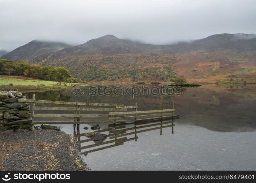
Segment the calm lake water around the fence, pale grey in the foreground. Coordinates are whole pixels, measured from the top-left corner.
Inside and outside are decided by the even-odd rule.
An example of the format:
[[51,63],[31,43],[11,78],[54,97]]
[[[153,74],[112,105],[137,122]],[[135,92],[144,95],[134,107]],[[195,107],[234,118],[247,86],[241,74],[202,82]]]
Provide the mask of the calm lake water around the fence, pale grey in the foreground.
[[[159,109],[160,102],[163,102],[164,109],[168,109],[172,106],[171,101],[175,100],[175,114],[180,115],[174,123],[174,134],[171,127],[163,128],[162,135],[160,129],[141,132],[137,134],[137,142],[128,141],[82,155],[92,170],[256,170],[256,85],[212,84],[187,88],[182,96],[144,95],[133,99],[130,96],[89,96],[89,86],[81,89],[84,92],[82,96],[75,96],[74,91],[76,89],[23,94],[31,99],[35,93],[38,100],[125,105],[137,102],[138,111]],[[84,127],[92,125],[80,124],[80,133],[91,131],[84,130]],[[62,126],[62,131],[67,134],[73,134],[73,125],[58,126]],[[108,128],[108,124],[100,126],[101,129]],[[126,126],[129,127],[133,126]],[[127,136],[132,137],[134,135]],[[90,144],[94,143],[85,142],[81,146]]]

